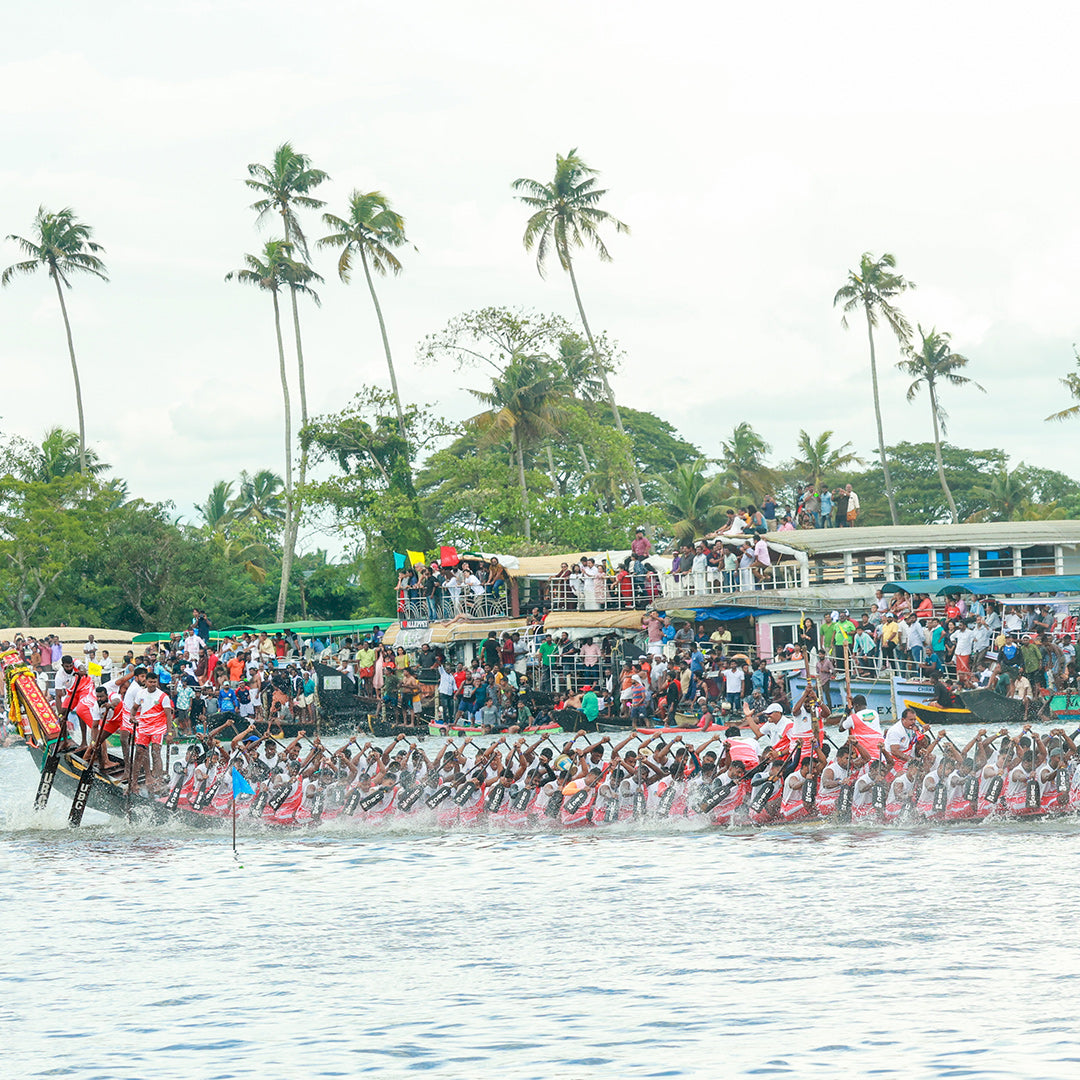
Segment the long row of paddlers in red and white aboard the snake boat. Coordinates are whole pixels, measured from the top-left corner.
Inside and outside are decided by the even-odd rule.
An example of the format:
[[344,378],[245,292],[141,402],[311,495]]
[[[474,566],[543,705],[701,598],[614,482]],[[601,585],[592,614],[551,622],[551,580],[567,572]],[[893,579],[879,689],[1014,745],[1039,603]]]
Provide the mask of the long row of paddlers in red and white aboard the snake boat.
[[[173,765],[172,809],[280,825],[330,818],[441,826],[589,827],[634,819],[699,824],[959,821],[1080,810],[1080,754],[1064,730],[978,731],[959,746],[906,711],[887,730],[855,697],[827,721],[779,705],[696,745],[685,735],[447,741],[434,756],[399,737],[332,750],[248,728],[192,744]],[[835,726],[835,732],[828,731]],[[240,792],[240,794],[235,794]],[[235,804],[233,804],[235,799]]]

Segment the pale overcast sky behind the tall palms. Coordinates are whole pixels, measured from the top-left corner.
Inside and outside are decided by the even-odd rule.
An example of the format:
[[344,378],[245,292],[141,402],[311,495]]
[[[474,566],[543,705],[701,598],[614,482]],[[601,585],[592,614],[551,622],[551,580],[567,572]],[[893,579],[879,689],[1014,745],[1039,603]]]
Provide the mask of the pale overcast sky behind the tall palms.
[[[918,284],[912,323],[951,332],[988,391],[945,392],[950,440],[1080,475],[1077,429],[1042,419],[1080,338],[1077,22],[1067,3],[9,5],[0,234],[39,203],[94,227],[111,281],[69,301],[87,438],[185,514],[241,469],[282,471],[269,300],[224,276],[273,235],[243,179],[284,139],[330,174],[328,210],[360,187],[406,218],[419,251],[379,285],[406,400],[472,409],[480,373],[416,364],[455,313],[576,316],[565,275],[522,247],[510,183],[578,147],[633,230],[612,264],[579,262],[594,327],[626,353],[621,402],[706,454],[747,420],[777,460],[799,428],[869,457],[865,329],[832,299],[861,252],[888,251]],[[318,414],[387,374],[362,280],[316,266]],[[0,350],[2,429],[76,428],[43,275],[0,295]],[[927,440],[897,359],[881,335],[886,438]]]

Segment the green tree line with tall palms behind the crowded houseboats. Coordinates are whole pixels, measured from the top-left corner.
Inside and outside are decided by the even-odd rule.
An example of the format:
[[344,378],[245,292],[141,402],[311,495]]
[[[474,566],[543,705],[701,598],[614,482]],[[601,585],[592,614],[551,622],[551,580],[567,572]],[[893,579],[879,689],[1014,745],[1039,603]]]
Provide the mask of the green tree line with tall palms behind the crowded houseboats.
[[[589,321],[576,259],[588,249],[609,260],[605,231],[630,230],[604,207],[608,192],[577,150],[556,154],[550,180],[511,185],[528,211],[524,247],[541,276],[552,260],[565,272],[577,322],[500,307],[462,313],[419,343],[417,361],[460,372],[476,411],[448,417],[403,402],[375,282],[404,269],[399,253],[411,246],[405,220],[382,192],[356,189],[343,213],[321,215],[324,234],[309,242],[310,217],[325,205],[316,191],[327,179],[289,143],[269,162],[247,166],[251,210],[280,235],[225,278],[269,300],[283,458],[280,472],[260,462],[252,473],[218,480],[191,523],[167,503],[129,499],[122,477],[87,446],[64,296],[79,275],[108,281],[91,227],[70,208],[40,207],[29,235],[9,237],[23,258],[0,282],[42,270],[55,286],[78,432],[55,428],[40,445],[8,438],[0,447],[0,621],[157,630],[183,622],[192,606],[217,612],[219,625],[387,615],[394,551],[440,543],[617,549],[639,524],[661,542],[686,540],[719,526],[729,508],[770,495],[793,508],[808,483],[854,485],[863,525],[1080,515],[1080,489],[1063,473],[1023,462],[1010,468],[1003,450],[945,442],[942,391],[983,388],[964,374],[970,361],[953,350],[947,333],[918,326],[915,342],[899,306],[915,285],[888,253],[864,253],[833,298],[845,325],[849,316],[866,325],[877,429],[872,464],[832,431],[800,431],[791,457],[774,454],[745,421],[699,447],[661,417],[620,404],[612,386],[619,348]],[[362,271],[390,386],[366,387],[324,417],[308,413],[300,321],[300,301],[318,306],[324,284],[312,249],[335,253],[342,283]],[[896,340],[897,366],[912,378],[908,401],[926,390],[932,442],[887,444],[875,337],[882,324]],[[1080,375],[1062,382],[1080,400]],[[332,565],[321,551],[298,555],[301,522],[343,536],[350,557]]]

